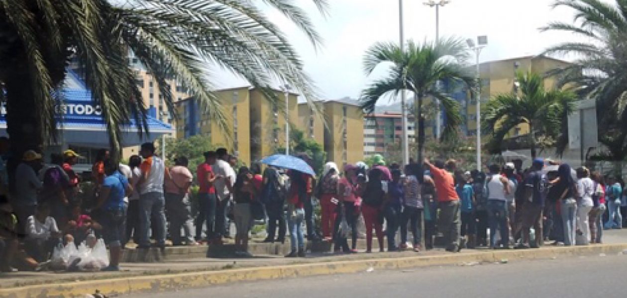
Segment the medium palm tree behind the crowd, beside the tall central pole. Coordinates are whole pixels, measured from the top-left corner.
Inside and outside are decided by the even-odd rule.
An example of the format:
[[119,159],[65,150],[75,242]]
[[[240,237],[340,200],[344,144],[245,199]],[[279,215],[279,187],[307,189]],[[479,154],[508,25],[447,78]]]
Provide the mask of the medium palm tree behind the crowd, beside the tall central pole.
[[372,113],[384,96],[398,96],[409,91],[414,94],[414,115],[418,126],[418,160],[424,155],[424,99],[440,100],[446,116],[443,138],[453,138],[462,121],[460,105],[445,91],[437,88],[438,81],[463,83],[471,86],[472,72],[466,67],[469,58],[465,41],[457,38],[440,39],[435,43],[409,41],[404,51],[395,43],[376,43],[366,52],[364,69],[371,74],[380,64],[391,64],[384,78],[372,81],[361,94],[362,108]]

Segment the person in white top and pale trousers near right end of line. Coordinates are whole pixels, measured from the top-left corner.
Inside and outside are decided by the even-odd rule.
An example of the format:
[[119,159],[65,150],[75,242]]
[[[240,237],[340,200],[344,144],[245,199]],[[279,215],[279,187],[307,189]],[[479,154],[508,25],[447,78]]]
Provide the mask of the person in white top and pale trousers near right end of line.
[[590,244],[590,225],[588,218],[594,207],[593,196],[596,189],[590,171],[586,167],[577,168],[577,245]]

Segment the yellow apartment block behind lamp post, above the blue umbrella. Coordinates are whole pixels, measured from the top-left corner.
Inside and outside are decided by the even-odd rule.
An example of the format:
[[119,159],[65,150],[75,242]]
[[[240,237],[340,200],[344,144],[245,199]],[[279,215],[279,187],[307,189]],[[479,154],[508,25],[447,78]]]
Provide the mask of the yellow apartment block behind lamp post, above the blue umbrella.
[[[258,89],[250,90],[250,152],[252,160],[260,160],[285,148],[285,97],[286,93],[273,90],[277,105],[271,103]],[[298,123],[298,95],[287,93],[288,119]]]

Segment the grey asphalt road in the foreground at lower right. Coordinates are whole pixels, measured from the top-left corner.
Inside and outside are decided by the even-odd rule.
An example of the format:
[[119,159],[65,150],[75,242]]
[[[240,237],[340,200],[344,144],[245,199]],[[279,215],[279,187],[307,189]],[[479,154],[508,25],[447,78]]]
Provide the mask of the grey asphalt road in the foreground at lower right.
[[627,297],[627,255],[378,270],[125,297]]

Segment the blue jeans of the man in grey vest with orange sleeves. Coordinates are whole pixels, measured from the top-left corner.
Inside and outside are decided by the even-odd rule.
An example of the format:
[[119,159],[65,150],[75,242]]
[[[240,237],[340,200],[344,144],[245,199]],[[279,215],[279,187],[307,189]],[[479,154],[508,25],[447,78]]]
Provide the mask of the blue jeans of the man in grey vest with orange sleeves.
[[166,199],[161,192],[149,192],[139,196],[139,246],[150,246],[150,227],[158,246],[166,245]]

